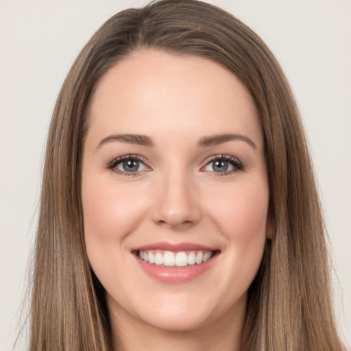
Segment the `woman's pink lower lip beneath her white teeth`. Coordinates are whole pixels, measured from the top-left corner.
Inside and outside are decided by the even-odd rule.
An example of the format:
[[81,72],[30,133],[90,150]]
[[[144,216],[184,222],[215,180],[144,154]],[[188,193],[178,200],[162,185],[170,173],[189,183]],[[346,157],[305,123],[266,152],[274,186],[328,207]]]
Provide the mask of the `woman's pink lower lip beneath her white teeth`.
[[208,261],[200,263],[199,265],[195,264],[187,265],[186,267],[181,268],[166,268],[152,263],[147,263],[134,254],[136,261],[147,275],[160,282],[171,284],[190,282],[191,280],[197,278],[201,274],[204,274],[206,271],[208,271],[208,269],[210,269],[210,267],[212,267],[213,263],[215,263],[217,256],[219,255],[215,254],[215,256],[212,256]]

